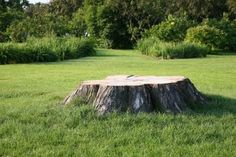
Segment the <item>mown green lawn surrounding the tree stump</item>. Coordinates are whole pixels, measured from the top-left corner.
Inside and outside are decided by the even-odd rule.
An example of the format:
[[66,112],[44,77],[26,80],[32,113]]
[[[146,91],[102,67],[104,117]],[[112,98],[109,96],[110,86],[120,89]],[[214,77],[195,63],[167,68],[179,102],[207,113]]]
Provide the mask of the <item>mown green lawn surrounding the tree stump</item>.
[[[0,156],[236,156],[236,55],[156,60],[100,50],[57,63],[0,65]],[[96,115],[59,103],[81,81],[184,75],[207,94],[195,113]]]

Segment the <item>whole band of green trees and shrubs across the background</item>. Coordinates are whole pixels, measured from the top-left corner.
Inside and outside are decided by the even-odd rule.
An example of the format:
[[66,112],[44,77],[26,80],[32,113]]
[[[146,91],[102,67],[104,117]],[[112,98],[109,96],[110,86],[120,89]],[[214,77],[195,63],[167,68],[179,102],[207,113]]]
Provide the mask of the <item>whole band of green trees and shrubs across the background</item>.
[[[235,17],[235,0],[51,0],[49,4],[0,0],[0,41],[89,36],[100,47],[132,48],[141,37],[156,34],[164,41],[202,43],[211,40],[201,39],[202,32],[212,37],[218,33],[216,40],[229,37]],[[235,49],[225,39],[207,45]]]

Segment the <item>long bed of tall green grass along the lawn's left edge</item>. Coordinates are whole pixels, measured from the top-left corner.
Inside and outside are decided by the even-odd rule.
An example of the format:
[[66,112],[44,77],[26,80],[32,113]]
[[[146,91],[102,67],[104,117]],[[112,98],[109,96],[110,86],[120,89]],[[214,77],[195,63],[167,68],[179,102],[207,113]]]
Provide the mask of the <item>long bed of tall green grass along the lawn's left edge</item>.
[[54,62],[95,55],[94,42],[74,37],[30,38],[26,43],[1,43],[0,64]]

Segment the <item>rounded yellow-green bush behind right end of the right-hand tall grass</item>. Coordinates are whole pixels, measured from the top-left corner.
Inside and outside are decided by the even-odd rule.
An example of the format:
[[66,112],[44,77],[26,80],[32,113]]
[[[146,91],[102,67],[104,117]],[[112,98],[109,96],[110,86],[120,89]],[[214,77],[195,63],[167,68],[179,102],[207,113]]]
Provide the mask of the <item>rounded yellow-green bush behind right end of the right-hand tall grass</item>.
[[226,34],[218,28],[199,25],[188,29],[185,40],[204,44],[211,49],[219,49],[225,45]]

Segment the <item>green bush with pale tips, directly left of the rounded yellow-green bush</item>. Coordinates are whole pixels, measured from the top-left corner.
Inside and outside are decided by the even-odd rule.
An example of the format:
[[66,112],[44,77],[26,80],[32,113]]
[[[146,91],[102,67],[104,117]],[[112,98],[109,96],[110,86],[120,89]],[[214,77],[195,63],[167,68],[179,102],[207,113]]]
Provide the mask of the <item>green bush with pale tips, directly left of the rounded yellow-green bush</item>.
[[144,37],[154,36],[166,42],[179,42],[184,40],[187,29],[193,25],[194,23],[185,16],[174,17],[169,15],[166,21],[145,32]]

